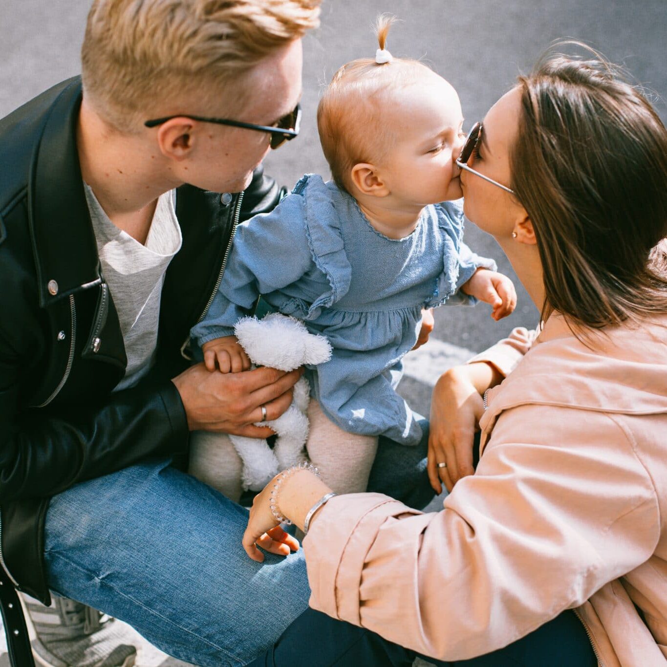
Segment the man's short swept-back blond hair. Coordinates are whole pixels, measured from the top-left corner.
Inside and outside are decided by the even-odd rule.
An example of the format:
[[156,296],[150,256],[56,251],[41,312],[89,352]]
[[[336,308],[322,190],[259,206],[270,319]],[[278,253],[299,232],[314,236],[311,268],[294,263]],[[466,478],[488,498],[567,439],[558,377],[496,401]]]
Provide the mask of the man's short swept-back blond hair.
[[84,95],[129,132],[181,111],[169,102],[196,98],[187,111],[207,115],[237,108],[243,91],[230,82],[317,27],[320,1],[95,0],[81,48]]

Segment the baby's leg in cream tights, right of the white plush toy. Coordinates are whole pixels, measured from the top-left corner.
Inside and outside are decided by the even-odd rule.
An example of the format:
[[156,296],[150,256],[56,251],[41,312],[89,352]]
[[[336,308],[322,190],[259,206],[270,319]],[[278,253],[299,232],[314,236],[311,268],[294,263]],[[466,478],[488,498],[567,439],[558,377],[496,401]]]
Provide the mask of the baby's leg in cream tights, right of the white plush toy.
[[378,438],[348,433],[333,424],[319,403],[308,404],[310,434],[306,449],[322,480],[338,494],[366,491],[378,450]]

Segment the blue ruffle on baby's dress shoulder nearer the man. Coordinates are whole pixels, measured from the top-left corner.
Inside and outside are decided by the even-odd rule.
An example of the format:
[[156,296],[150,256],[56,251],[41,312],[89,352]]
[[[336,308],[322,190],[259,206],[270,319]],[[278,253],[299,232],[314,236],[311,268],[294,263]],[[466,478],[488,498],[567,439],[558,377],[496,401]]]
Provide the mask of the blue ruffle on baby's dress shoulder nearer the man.
[[316,174],[303,176],[293,192],[303,194],[308,246],[315,265],[326,276],[330,288],[310,304],[304,315],[304,319],[315,319],[323,308],[348,293],[352,281],[352,267],[345,252],[340,216],[335,205],[340,192],[329,187]]

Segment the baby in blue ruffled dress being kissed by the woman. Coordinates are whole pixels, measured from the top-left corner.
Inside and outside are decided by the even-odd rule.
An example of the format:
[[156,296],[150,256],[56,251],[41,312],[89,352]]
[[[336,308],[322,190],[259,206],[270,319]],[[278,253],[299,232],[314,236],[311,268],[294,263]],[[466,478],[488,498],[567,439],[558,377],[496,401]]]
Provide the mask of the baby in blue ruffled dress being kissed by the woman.
[[392,58],[390,24],[378,21],[376,59],[341,67],[319,103],[333,181],[305,175],[271,213],[238,225],[219,290],[191,331],[209,370],[249,368],[233,325],[261,294],[329,339],[331,360],[307,371],[306,448],[339,493],[366,490],[378,436],[422,438],[395,391],[422,309],[480,299],[500,319],[516,302],[510,279],[462,240],[458,95],[422,63]]

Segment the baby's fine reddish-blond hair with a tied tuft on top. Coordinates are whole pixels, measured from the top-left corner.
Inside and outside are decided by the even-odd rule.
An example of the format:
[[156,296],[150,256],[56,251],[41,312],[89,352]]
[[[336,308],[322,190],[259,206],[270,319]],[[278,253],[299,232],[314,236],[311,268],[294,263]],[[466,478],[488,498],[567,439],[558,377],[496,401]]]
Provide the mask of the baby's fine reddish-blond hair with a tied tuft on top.
[[[380,49],[396,19],[378,17],[376,35]],[[359,163],[377,164],[396,143],[387,127],[386,114],[392,91],[413,85],[432,71],[419,61],[394,58],[376,63],[360,58],[346,63],[333,75],[317,106],[317,131],[324,157],[336,184],[350,191],[350,172]]]

